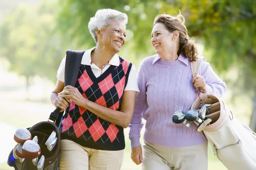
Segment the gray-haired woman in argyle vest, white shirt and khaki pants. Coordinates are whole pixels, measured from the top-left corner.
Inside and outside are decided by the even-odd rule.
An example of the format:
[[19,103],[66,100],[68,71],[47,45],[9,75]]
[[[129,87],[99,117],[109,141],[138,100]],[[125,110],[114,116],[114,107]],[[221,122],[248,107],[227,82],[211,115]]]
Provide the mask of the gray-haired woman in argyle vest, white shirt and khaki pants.
[[[66,110],[61,119],[60,170],[120,170],[123,128],[128,127],[137,92],[136,69],[117,55],[125,44],[128,17],[98,10],[88,24],[96,47],[84,51],[75,87],[64,87],[65,58],[51,94]],[[70,102],[70,103],[69,103]]]

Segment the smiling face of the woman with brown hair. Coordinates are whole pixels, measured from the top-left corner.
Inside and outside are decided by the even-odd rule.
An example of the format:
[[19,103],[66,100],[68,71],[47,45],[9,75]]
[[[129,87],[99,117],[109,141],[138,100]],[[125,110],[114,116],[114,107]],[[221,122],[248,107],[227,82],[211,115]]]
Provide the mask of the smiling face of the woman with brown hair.
[[172,40],[174,37],[173,33],[170,33],[163,23],[156,23],[154,25],[151,37],[151,44],[159,55],[176,48],[176,42]]

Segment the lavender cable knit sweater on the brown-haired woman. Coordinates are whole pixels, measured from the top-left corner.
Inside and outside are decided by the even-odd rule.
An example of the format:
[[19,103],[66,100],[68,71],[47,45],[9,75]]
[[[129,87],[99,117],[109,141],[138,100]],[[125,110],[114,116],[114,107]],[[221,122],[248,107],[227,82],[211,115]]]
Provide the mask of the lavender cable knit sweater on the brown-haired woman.
[[[222,96],[226,84],[203,61],[199,75],[205,78],[207,93]],[[188,128],[172,122],[177,110],[188,111],[197,95],[192,82],[189,59],[180,55],[176,61],[165,61],[158,55],[143,59],[137,73],[140,93],[129,125],[131,147],[141,146],[142,119],[146,120],[143,139],[164,147],[188,147],[207,141],[194,123]]]

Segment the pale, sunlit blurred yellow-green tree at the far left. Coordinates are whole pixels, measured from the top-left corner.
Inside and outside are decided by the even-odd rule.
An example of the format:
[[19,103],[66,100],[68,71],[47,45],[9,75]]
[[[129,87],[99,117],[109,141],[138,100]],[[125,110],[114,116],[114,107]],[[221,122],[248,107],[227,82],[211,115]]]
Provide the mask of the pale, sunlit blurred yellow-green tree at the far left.
[[56,81],[56,71],[69,41],[55,22],[57,1],[44,1],[35,8],[20,6],[3,17],[0,24],[0,56],[9,62],[10,71],[29,78],[35,75]]

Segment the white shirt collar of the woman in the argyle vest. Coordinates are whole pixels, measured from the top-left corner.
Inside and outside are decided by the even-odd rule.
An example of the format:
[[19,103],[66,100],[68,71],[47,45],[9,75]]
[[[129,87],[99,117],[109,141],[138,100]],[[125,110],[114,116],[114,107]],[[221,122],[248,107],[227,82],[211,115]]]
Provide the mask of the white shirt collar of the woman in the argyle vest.
[[[95,50],[96,47],[93,47],[91,48],[90,50],[86,50],[84,52],[84,55],[82,57],[82,60],[81,60],[81,64],[84,64],[84,65],[92,65],[91,64],[91,57],[90,57],[90,54],[93,50]],[[109,61],[109,64],[110,65],[115,65],[115,66],[118,66],[119,65],[119,56],[117,54],[115,54],[111,60]]]

